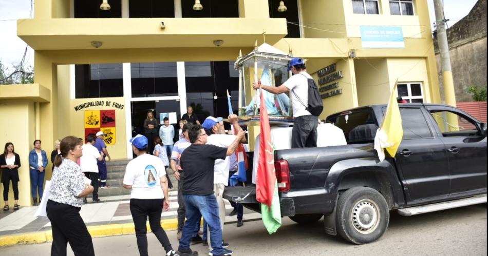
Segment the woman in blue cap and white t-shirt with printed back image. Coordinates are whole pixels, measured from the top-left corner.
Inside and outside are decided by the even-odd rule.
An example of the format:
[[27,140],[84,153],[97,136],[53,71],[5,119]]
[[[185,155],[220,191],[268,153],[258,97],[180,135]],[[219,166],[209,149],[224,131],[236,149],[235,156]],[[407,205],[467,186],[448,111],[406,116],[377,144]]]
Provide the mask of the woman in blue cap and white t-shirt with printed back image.
[[136,229],[137,248],[140,255],[147,255],[147,227],[149,226],[166,251],[166,255],[178,255],[173,250],[166,232],[161,227],[161,212],[170,209],[168,183],[163,162],[147,153],[147,137],[137,134],[129,140],[137,157],[125,167],[123,186],[130,191],[130,213]]

